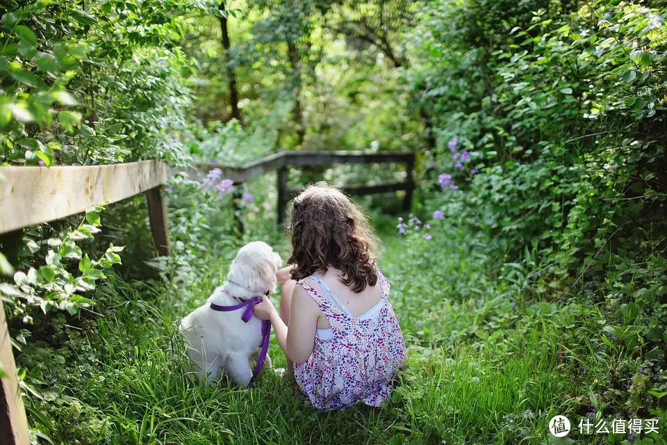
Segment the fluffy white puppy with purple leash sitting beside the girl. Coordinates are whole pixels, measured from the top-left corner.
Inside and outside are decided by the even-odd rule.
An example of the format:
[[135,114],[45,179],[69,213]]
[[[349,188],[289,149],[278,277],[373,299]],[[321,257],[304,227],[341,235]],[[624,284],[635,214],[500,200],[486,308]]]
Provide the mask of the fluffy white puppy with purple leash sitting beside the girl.
[[259,318],[253,315],[245,323],[241,320],[245,308],[219,312],[211,309],[211,303],[233,306],[275,291],[280,266],[279,255],[267,243],[253,241],[244,245],[229,266],[227,281],[181,321],[190,358],[199,366],[202,378],[208,375],[208,385],[224,371],[236,385],[247,386],[252,378],[249,357],[262,341]]

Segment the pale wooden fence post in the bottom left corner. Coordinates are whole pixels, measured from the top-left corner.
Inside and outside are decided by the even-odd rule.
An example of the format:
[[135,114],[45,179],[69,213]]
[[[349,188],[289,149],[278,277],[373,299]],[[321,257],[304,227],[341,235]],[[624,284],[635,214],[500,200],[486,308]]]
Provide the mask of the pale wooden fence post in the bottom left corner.
[[30,445],[28,419],[21,398],[2,300],[0,300],[0,367],[6,374],[6,377],[0,378],[0,445]]

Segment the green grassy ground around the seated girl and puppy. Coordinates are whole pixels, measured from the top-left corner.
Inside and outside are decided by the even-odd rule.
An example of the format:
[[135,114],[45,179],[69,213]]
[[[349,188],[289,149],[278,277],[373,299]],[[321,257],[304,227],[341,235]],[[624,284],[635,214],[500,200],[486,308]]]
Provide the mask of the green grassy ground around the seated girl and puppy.
[[[596,352],[594,307],[525,299],[517,284],[491,280],[484,258],[454,236],[411,239],[384,236],[381,268],[393,286],[409,367],[381,409],[318,412],[272,372],[250,389],[195,381],[174,322],[208,296],[226,258],[188,285],[187,298],[179,286],[112,277],[102,289],[106,316],[94,318],[88,334],[70,330],[61,350],[26,349],[31,382],[51,388],[42,400],[31,397],[33,425],[67,444],[551,443],[552,416],[573,420],[597,403],[608,357]],[[283,366],[274,342],[270,352]],[[597,408],[590,410],[602,416]]]

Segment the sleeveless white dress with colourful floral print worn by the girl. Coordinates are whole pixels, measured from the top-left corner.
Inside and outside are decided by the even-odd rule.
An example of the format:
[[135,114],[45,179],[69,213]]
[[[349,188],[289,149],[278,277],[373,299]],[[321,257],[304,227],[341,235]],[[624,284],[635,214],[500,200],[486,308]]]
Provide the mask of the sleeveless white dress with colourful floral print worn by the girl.
[[[390,286],[377,269],[381,298],[362,316],[353,317],[319,275],[310,278],[320,289],[299,280],[331,325],[333,336],[315,336],[306,362],[294,365],[299,388],[321,410],[343,409],[363,401],[379,406],[391,392],[391,380],[405,360],[401,328],[388,300]],[[310,280],[308,280],[310,281]]]

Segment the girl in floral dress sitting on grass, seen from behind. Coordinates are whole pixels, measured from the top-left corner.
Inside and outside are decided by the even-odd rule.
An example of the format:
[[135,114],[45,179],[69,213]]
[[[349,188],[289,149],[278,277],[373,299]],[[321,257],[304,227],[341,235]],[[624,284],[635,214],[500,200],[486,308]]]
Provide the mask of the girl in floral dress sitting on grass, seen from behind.
[[406,350],[372,230],[343,193],[320,183],[295,198],[289,234],[280,313],[264,298],[256,316],[271,321],[289,371],[315,407],[378,406]]

